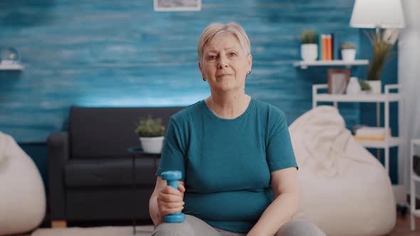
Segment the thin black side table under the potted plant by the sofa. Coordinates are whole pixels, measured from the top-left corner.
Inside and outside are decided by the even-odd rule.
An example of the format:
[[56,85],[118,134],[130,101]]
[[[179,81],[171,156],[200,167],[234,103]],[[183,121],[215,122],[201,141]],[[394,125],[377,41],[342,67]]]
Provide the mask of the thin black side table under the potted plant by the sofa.
[[127,151],[131,154],[131,166],[132,166],[132,194],[133,194],[133,217],[132,217],[132,234],[135,235],[136,232],[142,232],[142,231],[137,231],[136,230],[136,209],[137,209],[137,204],[136,204],[136,157],[137,156],[142,156],[145,158],[152,158],[153,160],[153,166],[154,166],[154,170],[157,168],[157,160],[160,159],[160,155],[161,154],[149,154],[146,153],[145,151],[143,151],[142,147],[131,147],[128,148]]

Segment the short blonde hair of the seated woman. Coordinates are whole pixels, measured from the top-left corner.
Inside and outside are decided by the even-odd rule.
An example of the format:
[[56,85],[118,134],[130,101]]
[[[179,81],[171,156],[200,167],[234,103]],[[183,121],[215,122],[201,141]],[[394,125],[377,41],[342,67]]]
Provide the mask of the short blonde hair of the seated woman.
[[203,60],[204,45],[211,41],[214,36],[220,35],[222,33],[232,33],[234,36],[236,36],[236,38],[238,38],[239,43],[241,43],[243,53],[246,55],[251,54],[251,43],[249,43],[249,38],[238,23],[211,23],[209,26],[204,28],[204,31],[201,33],[199,43],[197,45],[197,53],[199,54],[200,63],[202,63]]

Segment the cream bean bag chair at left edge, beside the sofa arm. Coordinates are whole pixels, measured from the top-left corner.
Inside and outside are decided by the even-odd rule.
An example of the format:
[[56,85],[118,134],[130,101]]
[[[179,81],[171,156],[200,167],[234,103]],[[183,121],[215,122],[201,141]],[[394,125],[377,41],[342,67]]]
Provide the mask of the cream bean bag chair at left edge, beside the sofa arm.
[[0,235],[33,230],[45,212],[38,168],[11,136],[0,132]]

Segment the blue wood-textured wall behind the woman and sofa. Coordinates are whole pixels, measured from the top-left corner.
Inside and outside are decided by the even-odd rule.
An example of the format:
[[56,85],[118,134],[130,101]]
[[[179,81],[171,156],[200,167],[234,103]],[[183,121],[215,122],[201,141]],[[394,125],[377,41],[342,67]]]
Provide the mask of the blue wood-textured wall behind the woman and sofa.
[[[303,28],[368,41],[349,21],[354,0],[203,0],[198,12],[154,12],[152,0],[0,1],[0,45],[21,52],[22,73],[0,71],[0,130],[21,144],[63,129],[68,107],[187,105],[209,95],[197,66],[196,42],[211,22],[236,21],[253,54],[246,92],[280,107],[289,124],[311,108],[312,85],[326,68],[300,70]],[[362,55],[359,49],[359,55]],[[360,68],[352,75],[361,75]],[[393,71],[396,71],[394,68]],[[387,76],[387,75],[385,75]],[[348,126],[358,104],[342,105]],[[372,119],[374,111],[362,119]],[[27,146],[29,149],[31,146]]]

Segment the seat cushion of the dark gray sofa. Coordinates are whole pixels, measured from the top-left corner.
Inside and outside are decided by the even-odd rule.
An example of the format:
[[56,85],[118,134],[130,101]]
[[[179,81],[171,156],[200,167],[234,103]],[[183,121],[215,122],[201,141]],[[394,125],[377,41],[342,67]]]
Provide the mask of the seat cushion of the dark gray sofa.
[[[136,185],[154,186],[158,159],[136,159]],[[65,166],[65,186],[127,187],[132,186],[132,159],[72,159]]]

